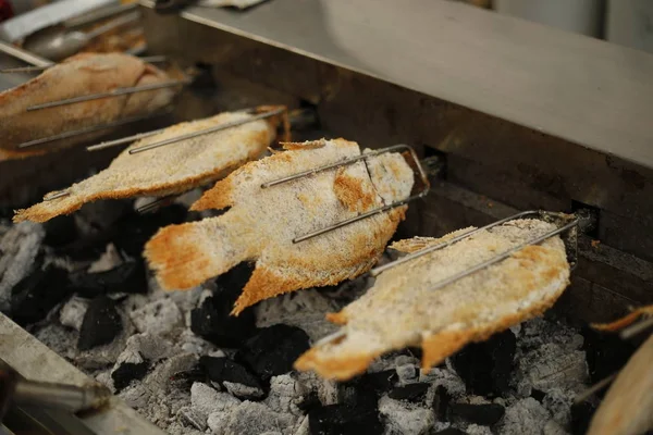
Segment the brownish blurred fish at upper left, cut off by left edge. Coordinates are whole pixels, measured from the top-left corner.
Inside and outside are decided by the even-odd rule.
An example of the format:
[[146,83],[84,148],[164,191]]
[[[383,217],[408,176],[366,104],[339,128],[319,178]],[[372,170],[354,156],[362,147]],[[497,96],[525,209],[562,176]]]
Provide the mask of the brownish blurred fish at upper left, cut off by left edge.
[[[0,94],[0,148],[8,151],[2,156],[5,159],[30,156],[35,153],[34,149],[23,154],[25,150],[17,146],[63,132],[155,112],[170,103],[177,89],[162,88],[36,111],[27,111],[29,107],[169,80],[172,78],[167,73],[133,55],[73,55],[29,82]],[[88,139],[88,136],[85,138]],[[62,140],[57,142],[57,147],[71,146],[76,141]],[[41,152],[50,149],[51,145],[39,148]]]

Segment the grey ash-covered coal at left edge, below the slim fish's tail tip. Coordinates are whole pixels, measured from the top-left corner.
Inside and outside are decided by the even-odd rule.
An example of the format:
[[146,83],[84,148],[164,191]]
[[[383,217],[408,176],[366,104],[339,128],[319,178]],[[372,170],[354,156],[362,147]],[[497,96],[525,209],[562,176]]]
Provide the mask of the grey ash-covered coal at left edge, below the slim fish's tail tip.
[[42,225],[21,222],[0,239],[0,311],[9,309],[11,290],[32,271],[45,237]]

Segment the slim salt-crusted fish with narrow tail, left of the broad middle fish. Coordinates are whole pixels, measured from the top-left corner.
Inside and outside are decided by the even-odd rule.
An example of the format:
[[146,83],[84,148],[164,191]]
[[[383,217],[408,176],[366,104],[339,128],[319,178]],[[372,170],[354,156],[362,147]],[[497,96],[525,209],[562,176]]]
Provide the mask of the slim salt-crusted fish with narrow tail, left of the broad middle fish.
[[69,187],[69,195],[19,210],[14,222],[45,222],[99,199],[162,197],[222,178],[266,151],[275,138],[278,117],[252,121],[145,152],[130,154],[130,150],[252,116],[226,112],[168,127],[130,146],[104,171]]

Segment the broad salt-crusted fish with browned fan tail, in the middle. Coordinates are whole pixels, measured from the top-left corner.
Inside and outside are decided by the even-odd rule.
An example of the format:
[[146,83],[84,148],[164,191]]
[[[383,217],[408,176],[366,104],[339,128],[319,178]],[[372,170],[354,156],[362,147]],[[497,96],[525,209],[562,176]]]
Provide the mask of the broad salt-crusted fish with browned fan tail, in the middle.
[[193,210],[231,209],[219,217],[161,229],[145,257],[167,289],[185,289],[242,261],[256,269],[236,301],[238,313],[259,300],[334,285],[368,271],[406,207],[293,244],[305,235],[410,195],[414,173],[398,153],[384,153],[286,184],[261,184],[360,154],[335,139],[286,144],[287,151],[250,162],[218,182]]

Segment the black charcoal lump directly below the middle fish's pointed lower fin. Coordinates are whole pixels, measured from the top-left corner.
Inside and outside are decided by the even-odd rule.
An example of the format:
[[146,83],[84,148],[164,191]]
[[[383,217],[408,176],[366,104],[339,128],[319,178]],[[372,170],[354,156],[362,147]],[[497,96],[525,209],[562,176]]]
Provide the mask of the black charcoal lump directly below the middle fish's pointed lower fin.
[[259,330],[249,338],[236,353],[236,360],[268,382],[292,371],[293,363],[308,348],[308,335],[303,330],[276,324]]

